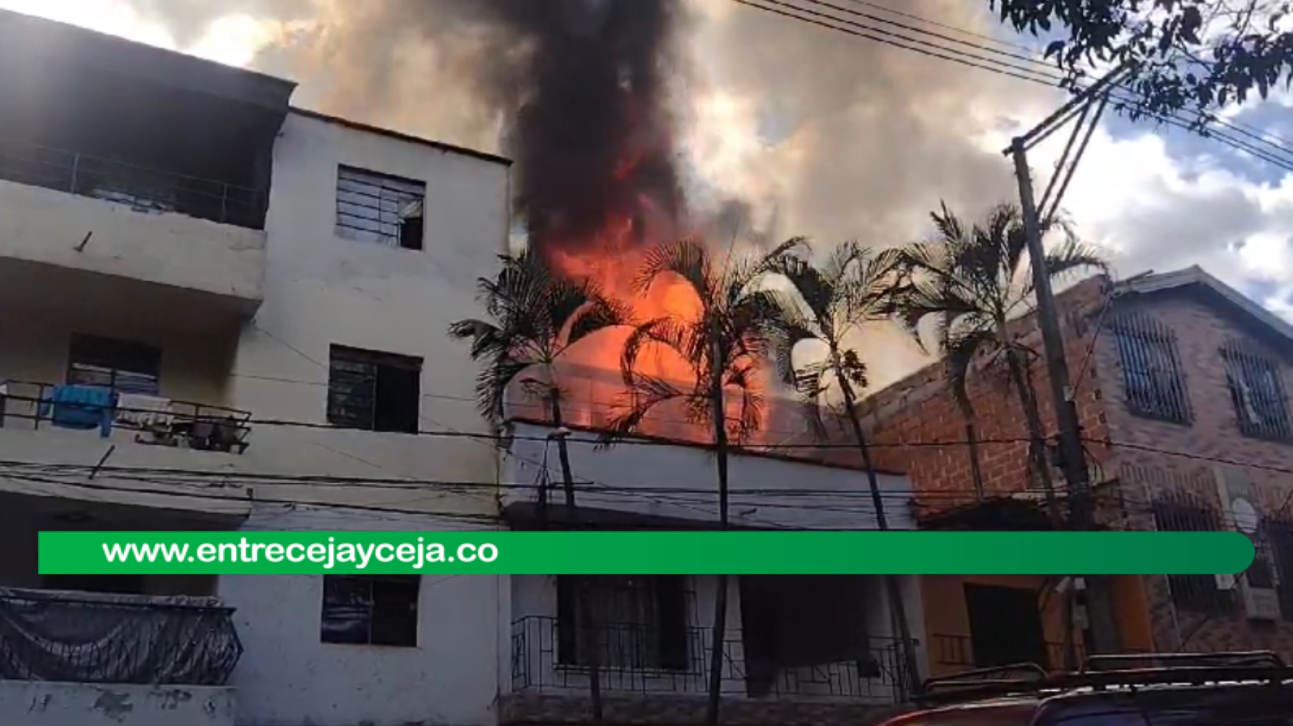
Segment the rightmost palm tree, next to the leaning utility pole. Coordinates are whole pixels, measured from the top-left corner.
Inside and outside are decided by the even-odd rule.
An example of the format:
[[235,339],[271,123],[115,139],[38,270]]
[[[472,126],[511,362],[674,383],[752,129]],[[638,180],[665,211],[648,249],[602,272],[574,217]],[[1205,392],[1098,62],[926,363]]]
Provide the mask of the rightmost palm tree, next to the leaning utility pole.
[[[939,353],[944,355],[949,384],[967,421],[974,420],[968,395],[974,363],[985,359],[989,366],[1005,366],[1028,426],[1033,477],[1046,492],[1051,517],[1059,521],[1045,429],[1031,376],[1037,354],[1010,331],[1011,320],[1033,310],[1023,213],[1014,204],[999,204],[981,223],[967,227],[941,204],[931,217],[937,234],[900,253],[899,266],[906,282],[895,297],[893,310],[918,341],[921,323],[935,320]],[[1099,252],[1080,242],[1063,220],[1053,220],[1042,229],[1042,234],[1050,231],[1063,234],[1060,244],[1046,253],[1051,280],[1059,282],[1084,269],[1108,270]],[[978,456],[972,459],[978,469]]]

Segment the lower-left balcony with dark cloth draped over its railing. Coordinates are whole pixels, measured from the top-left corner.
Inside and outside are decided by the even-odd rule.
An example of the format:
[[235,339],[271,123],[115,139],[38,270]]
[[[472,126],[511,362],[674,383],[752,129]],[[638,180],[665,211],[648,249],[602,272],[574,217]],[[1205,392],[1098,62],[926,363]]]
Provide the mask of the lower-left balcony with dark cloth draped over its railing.
[[209,597],[0,588],[0,722],[231,725],[231,612]]

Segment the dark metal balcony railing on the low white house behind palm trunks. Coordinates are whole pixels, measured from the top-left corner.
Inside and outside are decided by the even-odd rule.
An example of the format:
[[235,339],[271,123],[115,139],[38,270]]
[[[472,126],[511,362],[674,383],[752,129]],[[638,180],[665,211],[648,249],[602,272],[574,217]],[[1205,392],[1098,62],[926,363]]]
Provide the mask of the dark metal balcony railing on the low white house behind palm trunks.
[[[643,625],[600,625],[584,630],[595,636],[599,685],[608,694],[703,695],[709,691],[710,643],[707,628],[687,628],[665,656],[659,630]],[[512,687],[516,692],[587,694],[591,669],[568,663],[560,647],[559,620],[530,616],[512,624]],[[723,641],[723,695],[778,700],[844,700],[874,704],[903,701],[903,659],[895,638],[871,638],[870,654],[856,661],[822,663],[798,668],[759,669],[746,660],[740,632]],[[583,659],[584,661],[587,659]],[[765,670],[760,677],[756,670]]]

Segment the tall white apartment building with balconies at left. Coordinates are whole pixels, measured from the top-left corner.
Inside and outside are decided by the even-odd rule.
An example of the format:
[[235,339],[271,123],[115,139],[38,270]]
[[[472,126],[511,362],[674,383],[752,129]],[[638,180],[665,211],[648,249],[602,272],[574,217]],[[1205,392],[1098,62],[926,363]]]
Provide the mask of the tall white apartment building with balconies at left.
[[416,431],[487,431],[446,329],[508,161],[10,13],[0,56],[0,722],[494,722],[497,577],[43,577],[35,541],[491,526],[490,442]]

